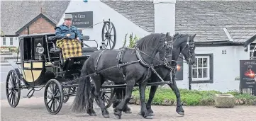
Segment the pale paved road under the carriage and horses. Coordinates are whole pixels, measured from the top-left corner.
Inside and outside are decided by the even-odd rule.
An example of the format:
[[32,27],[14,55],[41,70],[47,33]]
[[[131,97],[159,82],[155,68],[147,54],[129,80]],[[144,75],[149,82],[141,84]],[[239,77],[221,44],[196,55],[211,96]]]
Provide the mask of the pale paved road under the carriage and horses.
[[[94,120],[107,121],[117,120],[113,115],[113,109],[109,108],[110,117],[105,119],[101,115],[100,110],[96,110],[96,117],[90,117],[87,114],[75,114],[69,110],[74,97],[70,98],[67,104],[63,104],[62,110],[57,115],[50,115],[45,109],[43,98],[21,99],[16,108],[11,108],[6,100],[1,100],[1,121],[52,121],[52,120]],[[138,115],[140,107],[138,105],[130,105],[133,113],[123,114],[121,120],[142,121],[143,117]],[[235,108],[213,108],[213,107],[184,107],[185,116],[181,117],[175,113],[174,106],[153,106],[155,117],[152,121],[160,120],[193,120],[193,121],[252,121],[256,119],[256,106],[236,106]]]

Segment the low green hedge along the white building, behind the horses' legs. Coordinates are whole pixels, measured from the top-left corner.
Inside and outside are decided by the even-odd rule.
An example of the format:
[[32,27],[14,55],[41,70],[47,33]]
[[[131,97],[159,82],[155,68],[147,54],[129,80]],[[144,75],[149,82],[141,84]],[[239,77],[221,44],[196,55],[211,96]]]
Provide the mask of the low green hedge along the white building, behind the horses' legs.
[[[236,100],[235,105],[256,105],[256,96],[240,94],[235,91],[221,93],[218,91],[190,91],[179,89],[183,105],[214,105],[215,94],[232,94]],[[148,101],[150,87],[146,88],[146,101]],[[130,103],[140,104],[138,88],[133,91],[133,99]],[[157,88],[152,105],[176,105],[176,96],[171,88]]]

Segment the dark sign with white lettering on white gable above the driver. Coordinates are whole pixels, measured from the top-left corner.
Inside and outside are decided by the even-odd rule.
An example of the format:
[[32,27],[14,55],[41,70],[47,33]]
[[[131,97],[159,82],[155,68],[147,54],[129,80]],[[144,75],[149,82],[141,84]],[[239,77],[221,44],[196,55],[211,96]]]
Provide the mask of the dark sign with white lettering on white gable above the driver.
[[84,11],[84,12],[73,12],[66,13],[72,14],[72,25],[77,28],[93,28],[93,12]]

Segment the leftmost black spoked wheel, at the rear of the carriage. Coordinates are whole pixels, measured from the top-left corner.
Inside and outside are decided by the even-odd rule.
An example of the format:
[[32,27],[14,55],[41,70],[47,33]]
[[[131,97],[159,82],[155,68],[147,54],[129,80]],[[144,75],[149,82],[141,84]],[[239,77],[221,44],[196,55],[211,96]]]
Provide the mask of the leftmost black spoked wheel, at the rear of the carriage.
[[6,79],[6,98],[12,108],[16,108],[21,97],[20,81],[14,70],[9,71]]

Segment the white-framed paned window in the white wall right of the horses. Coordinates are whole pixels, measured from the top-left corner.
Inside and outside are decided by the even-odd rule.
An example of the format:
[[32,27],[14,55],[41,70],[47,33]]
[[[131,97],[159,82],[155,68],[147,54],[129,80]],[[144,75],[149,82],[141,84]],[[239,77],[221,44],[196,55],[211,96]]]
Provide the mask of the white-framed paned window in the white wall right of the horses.
[[210,79],[210,57],[198,56],[196,63],[192,66],[193,81]]

